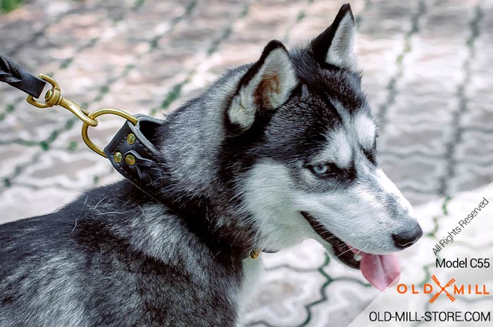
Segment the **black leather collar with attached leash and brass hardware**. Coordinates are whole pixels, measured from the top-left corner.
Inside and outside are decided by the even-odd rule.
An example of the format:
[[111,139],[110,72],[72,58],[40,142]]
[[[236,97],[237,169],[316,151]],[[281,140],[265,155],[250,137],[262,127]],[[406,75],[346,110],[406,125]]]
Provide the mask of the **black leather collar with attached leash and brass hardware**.
[[[156,131],[162,128],[166,121],[142,114],[132,116],[118,109],[99,109],[89,113],[80,108],[78,104],[63,98],[61,89],[54,79],[43,74],[40,74],[39,77],[37,78],[27,73],[11,58],[0,55],[0,82],[6,82],[29,94],[30,97],[27,97],[27,102],[33,106],[46,108],[59,105],[74,113],[84,123],[82,126],[82,138],[89,148],[108,158],[116,171],[144,194],[156,200],[156,202],[161,202],[175,214],[184,216],[187,221],[193,221],[197,217],[203,217],[206,214],[206,204],[200,201],[196,201],[194,204],[187,204],[185,208],[163,194],[163,190],[166,187],[165,182],[169,180],[166,180],[166,176],[163,178],[163,167],[158,165],[158,149],[156,149],[153,142],[156,142]],[[52,89],[45,95],[46,102],[41,103],[33,98],[41,96],[46,82],[52,85]],[[111,142],[104,149],[101,149],[89,140],[87,129],[89,126],[96,126],[96,118],[105,113],[116,114],[125,118],[126,121],[120,130],[116,132]],[[154,178],[154,173],[158,171],[160,173],[159,177]],[[197,230],[197,233],[206,233],[206,231]],[[235,252],[239,254],[241,259],[246,259],[247,257],[255,259],[261,250],[237,249]]]

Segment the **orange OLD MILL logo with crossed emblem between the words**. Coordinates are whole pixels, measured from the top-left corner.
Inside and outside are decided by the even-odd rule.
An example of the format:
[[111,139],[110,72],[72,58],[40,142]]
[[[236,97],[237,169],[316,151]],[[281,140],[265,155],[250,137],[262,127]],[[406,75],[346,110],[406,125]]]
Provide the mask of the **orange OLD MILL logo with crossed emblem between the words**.
[[431,283],[423,284],[423,288],[420,285],[397,285],[397,292],[400,294],[406,294],[411,292],[411,294],[433,294],[430,298],[430,303],[435,302],[440,295],[445,295],[449,298],[451,302],[454,302],[456,298],[454,295],[489,295],[486,289],[486,285],[482,284],[456,284],[456,279],[451,278],[447,283],[440,283],[437,276],[432,275],[431,279],[435,282],[435,285]]

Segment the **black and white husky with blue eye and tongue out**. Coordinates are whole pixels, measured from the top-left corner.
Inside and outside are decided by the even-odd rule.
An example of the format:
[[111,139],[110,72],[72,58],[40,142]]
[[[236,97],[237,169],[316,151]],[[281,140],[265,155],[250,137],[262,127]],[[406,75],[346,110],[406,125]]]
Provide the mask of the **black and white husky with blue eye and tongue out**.
[[422,231],[377,164],[354,32],[344,5],[305,47],[269,42],[166,118],[153,178],[195,214],[123,180],[0,226],[0,326],[237,326],[252,258],[306,238],[392,283],[392,252]]

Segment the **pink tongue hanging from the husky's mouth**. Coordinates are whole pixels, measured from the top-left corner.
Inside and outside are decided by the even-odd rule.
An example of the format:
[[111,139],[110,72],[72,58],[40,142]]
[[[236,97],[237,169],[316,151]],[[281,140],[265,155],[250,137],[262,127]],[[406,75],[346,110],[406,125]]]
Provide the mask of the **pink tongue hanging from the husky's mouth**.
[[385,290],[399,280],[401,266],[396,254],[369,254],[354,247],[351,247],[351,251],[361,255],[361,273],[375,288]]

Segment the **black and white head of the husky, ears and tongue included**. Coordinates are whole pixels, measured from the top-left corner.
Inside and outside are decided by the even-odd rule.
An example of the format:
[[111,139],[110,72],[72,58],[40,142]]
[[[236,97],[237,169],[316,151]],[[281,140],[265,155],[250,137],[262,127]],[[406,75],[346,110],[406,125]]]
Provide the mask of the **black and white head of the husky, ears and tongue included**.
[[235,161],[225,169],[239,181],[263,247],[314,238],[384,288],[399,274],[389,253],[412,245],[422,230],[378,166],[377,124],[361,90],[354,33],[344,5],[306,47],[267,45],[225,111],[223,148]]

